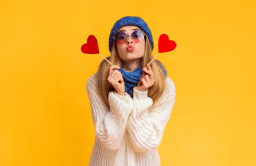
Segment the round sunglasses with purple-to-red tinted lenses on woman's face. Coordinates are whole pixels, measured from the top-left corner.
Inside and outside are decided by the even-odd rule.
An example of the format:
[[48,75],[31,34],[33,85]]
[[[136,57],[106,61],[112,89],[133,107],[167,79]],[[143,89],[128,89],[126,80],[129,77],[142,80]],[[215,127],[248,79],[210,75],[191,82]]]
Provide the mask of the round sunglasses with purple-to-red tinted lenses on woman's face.
[[131,39],[134,41],[134,43],[142,42],[145,33],[141,30],[134,30],[134,32],[131,33],[131,35],[127,35],[124,32],[117,33],[115,37],[113,37],[114,41],[118,44],[125,44],[127,42],[128,37],[130,36]]

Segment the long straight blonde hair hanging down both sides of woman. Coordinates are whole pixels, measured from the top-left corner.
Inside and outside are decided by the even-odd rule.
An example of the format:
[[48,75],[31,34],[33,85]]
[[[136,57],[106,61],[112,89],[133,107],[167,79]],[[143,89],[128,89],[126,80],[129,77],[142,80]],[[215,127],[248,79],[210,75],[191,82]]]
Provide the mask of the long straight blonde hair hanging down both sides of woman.
[[[141,65],[144,67],[152,60],[152,48],[149,43],[149,39],[147,38],[147,35],[145,37],[145,55],[143,56],[143,59],[141,61]],[[113,42],[111,55],[109,57],[109,61],[116,66],[121,66],[122,59],[120,59],[118,55],[118,51],[116,49],[116,43]],[[165,90],[165,76],[163,75],[163,70],[161,68],[161,64],[156,62],[154,60],[150,66],[152,67],[152,71],[154,72],[154,84],[148,89],[148,96],[149,98],[152,98],[153,105],[152,108],[155,107],[155,103],[158,101],[158,99],[163,94],[163,91]],[[109,67],[110,64],[103,60],[98,68],[98,72],[95,74],[95,81],[97,82],[97,89],[98,94],[100,95],[101,100],[104,102],[104,104],[109,107],[109,101],[108,101],[108,95],[110,91],[114,91],[113,86],[109,84],[107,81],[108,73],[109,73]],[[152,109],[151,108],[151,109]]]

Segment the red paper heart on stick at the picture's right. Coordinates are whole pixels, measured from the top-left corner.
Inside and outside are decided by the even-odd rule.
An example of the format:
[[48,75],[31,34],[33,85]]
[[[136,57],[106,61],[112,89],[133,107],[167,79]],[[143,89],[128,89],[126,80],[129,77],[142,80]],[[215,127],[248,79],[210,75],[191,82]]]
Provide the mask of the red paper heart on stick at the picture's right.
[[165,53],[176,48],[176,42],[169,40],[168,35],[162,34],[158,39],[158,53]]

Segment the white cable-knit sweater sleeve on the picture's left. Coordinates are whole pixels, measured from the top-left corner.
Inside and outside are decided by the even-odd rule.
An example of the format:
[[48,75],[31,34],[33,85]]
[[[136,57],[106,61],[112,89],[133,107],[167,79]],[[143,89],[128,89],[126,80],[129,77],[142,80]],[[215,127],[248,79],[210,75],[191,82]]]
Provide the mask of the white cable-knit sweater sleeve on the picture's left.
[[89,78],[86,89],[91,104],[95,134],[107,149],[119,149],[133,107],[133,101],[127,93],[125,96],[121,96],[111,91],[108,96],[110,105],[110,108],[108,108],[97,93],[96,82],[93,77],[94,75]]

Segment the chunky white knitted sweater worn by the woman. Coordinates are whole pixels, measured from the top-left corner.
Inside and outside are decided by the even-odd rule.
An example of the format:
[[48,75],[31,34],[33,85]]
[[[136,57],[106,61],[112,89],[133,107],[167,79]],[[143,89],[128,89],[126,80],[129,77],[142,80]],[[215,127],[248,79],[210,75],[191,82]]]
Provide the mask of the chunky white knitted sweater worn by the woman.
[[134,88],[134,98],[127,93],[109,93],[106,107],[98,96],[94,75],[86,89],[91,104],[95,126],[95,144],[89,165],[93,166],[158,166],[160,157],[157,147],[174,106],[176,88],[167,77],[166,89],[156,102],[157,107],[148,111],[153,100],[147,91]]

